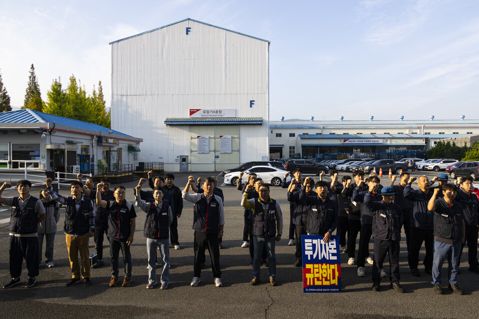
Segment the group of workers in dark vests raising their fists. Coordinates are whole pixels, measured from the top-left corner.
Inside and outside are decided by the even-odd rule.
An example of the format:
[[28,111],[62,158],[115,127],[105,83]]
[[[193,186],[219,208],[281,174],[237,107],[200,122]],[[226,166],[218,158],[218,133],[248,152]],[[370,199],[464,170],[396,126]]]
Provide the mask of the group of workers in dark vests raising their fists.
[[[381,277],[387,277],[383,270],[386,255],[389,255],[390,284],[403,293],[399,275],[399,251],[401,228],[404,227],[408,251],[408,264],[413,276],[420,277],[418,269],[419,252],[424,243],[426,255],[424,272],[432,275],[433,289],[442,294],[441,269],[446,259],[449,262],[448,288],[462,294],[458,285],[458,268],[464,246],[468,246],[469,270],[479,274],[477,258],[479,202],[473,192],[470,177],[448,182],[448,175],[439,174],[432,182],[425,175],[412,177],[405,172],[395,184],[393,176],[387,186],[381,185],[376,174],[367,178],[364,172],[356,170],[352,177],[345,175],[338,181],[338,172],[330,171],[331,182],[311,177],[303,178],[301,169],[293,171],[287,182],[285,174],[282,187],[287,188],[290,203],[288,245],[296,245],[294,266],[302,266],[301,235],[320,235],[328,242],[337,229],[342,253],[348,254],[348,265],[357,266],[357,275],[365,277],[365,264],[372,264],[372,290],[380,290]],[[252,265],[251,285],[260,282],[260,266],[268,267],[269,283],[276,286],[275,244],[280,241],[283,231],[283,215],[277,200],[269,196],[269,186],[254,173],[241,183],[240,173],[237,189],[242,192],[240,205],[244,207],[243,243],[248,247]],[[178,241],[178,218],[181,217],[183,199],[193,203],[194,229],[194,277],[191,286],[200,283],[201,269],[208,249],[211,257],[214,282],[221,281],[220,249],[225,225],[223,191],[216,177],[204,180],[193,176],[183,191],[174,185],[174,175],[166,174],[152,178],[148,173],[151,190],[142,190],[147,181],[140,179],[134,189],[135,205],[125,199],[126,189],[119,185],[110,190],[106,177],[96,184],[93,177],[82,182],[71,182],[71,196],[62,196],[53,190],[52,179],[45,180],[46,186],[40,191],[39,199],[30,194],[31,183],[20,180],[17,183],[18,197],[1,197],[5,188],[0,187],[0,203],[11,206],[9,243],[9,270],[11,281],[3,286],[10,288],[20,284],[21,265],[26,261],[28,281],[25,287],[32,287],[39,274],[42,259],[43,236],[46,241],[45,263],[53,264],[53,242],[59,220],[59,203],[65,207],[65,233],[71,279],[66,286],[83,282],[90,285],[90,254],[88,242],[94,237],[97,261],[93,268],[103,266],[103,236],[110,244],[111,278],[110,287],[119,280],[119,253],[124,262],[123,287],[131,284],[132,258],[130,245],[136,229],[136,207],[146,213],[144,237],[148,255],[147,289],[157,285],[156,266],[161,264],[160,289],[167,289],[170,281],[169,241],[174,249],[180,249]],[[413,189],[417,180],[419,189]],[[197,183],[197,184],[196,184]],[[196,184],[196,185],[195,185]],[[190,189],[193,194],[190,193]],[[356,241],[359,246],[356,256]],[[347,236],[347,241],[346,241]],[[373,238],[373,257],[369,254],[369,242]],[[157,249],[161,263],[157,260]],[[78,262],[80,255],[81,265]]]

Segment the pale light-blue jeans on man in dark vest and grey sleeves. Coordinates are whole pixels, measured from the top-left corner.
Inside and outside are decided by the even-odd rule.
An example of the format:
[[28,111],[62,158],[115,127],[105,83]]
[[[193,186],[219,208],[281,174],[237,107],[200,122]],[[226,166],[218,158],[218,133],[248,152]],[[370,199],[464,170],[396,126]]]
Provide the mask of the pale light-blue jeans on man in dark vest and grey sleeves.
[[160,256],[163,260],[160,281],[167,284],[170,281],[170,244],[168,238],[146,239],[146,252],[148,253],[148,283],[156,284],[156,248],[160,247]]

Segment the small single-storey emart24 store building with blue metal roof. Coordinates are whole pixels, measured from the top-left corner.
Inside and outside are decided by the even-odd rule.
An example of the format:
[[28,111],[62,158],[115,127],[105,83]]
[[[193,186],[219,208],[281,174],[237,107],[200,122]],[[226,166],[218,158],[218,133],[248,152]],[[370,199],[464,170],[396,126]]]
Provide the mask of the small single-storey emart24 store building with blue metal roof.
[[100,125],[30,109],[0,113],[0,137],[0,169],[93,174],[134,169],[143,142]]

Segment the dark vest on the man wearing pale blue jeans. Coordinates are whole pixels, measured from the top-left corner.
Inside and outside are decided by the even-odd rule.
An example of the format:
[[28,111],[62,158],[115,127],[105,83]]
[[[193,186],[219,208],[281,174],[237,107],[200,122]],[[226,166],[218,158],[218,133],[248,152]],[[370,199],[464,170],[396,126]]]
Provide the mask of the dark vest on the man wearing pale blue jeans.
[[168,239],[168,205],[161,202],[160,212],[156,209],[155,203],[149,203],[150,210],[146,214],[143,236],[151,239]]

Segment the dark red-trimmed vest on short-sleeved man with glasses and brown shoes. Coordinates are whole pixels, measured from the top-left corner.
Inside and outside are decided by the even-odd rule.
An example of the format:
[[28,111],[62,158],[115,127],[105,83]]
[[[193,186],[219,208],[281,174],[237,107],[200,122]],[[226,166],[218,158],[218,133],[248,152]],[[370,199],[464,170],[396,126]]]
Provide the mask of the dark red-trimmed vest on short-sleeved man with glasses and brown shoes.
[[130,209],[132,204],[123,200],[120,206],[116,201],[109,201],[108,207],[108,238],[127,239],[130,237]]

